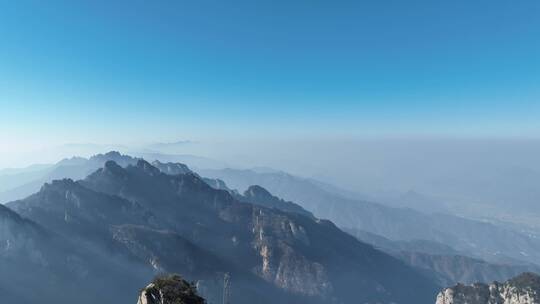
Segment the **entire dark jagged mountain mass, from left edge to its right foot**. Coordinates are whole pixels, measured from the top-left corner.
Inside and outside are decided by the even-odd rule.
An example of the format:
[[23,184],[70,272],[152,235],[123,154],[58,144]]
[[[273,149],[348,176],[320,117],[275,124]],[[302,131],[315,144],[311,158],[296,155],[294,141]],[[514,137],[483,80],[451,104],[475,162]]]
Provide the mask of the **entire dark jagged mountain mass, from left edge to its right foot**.
[[[433,302],[437,285],[424,274],[261,187],[231,194],[173,172],[187,167],[114,153],[70,168],[108,156],[80,181],[47,183],[1,209],[0,263],[15,265],[2,268],[1,289],[29,303],[90,303],[101,286],[103,303],[125,303],[152,273],[178,272],[213,303],[224,274],[232,303]],[[15,282],[58,286],[24,294]],[[60,287],[62,299],[50,294]]]

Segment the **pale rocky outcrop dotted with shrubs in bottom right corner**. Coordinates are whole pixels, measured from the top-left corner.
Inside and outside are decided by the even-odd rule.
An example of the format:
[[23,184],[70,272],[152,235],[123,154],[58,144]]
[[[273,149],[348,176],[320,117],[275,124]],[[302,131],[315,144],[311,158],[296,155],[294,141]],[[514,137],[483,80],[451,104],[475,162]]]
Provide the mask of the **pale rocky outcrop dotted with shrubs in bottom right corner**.
[[437,295],[436,304],[539,304],[540,277],[523,273],[504,283],[458,284]]

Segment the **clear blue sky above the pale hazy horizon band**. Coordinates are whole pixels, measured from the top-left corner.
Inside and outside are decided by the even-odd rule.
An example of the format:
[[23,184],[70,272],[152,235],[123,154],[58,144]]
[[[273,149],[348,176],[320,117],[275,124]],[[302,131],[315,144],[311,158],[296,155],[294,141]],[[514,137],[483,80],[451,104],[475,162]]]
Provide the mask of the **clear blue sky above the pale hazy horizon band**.
[[0,139],[540,136],[540,1],[0,1]]

